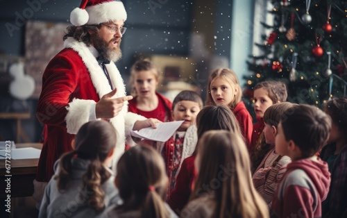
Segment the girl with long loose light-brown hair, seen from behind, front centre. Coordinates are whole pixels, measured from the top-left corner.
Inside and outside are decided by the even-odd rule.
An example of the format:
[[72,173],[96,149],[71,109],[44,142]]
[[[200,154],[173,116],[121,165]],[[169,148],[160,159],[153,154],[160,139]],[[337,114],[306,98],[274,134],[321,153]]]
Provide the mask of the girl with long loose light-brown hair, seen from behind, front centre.
[[269,217],[253,187],[242,137],[230,131],[208,131],[197,149],[198,176],[181,217]]

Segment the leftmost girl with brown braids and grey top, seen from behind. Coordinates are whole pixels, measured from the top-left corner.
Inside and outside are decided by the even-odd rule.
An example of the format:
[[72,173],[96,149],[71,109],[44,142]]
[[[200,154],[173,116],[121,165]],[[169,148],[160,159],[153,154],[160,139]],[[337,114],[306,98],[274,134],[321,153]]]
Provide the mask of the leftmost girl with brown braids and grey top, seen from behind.
[[73,145],[56,162],[40,207],[39,217],[95,217],[119,201],[110,164],[117,140],[107,121],[90,121],[81,126]]

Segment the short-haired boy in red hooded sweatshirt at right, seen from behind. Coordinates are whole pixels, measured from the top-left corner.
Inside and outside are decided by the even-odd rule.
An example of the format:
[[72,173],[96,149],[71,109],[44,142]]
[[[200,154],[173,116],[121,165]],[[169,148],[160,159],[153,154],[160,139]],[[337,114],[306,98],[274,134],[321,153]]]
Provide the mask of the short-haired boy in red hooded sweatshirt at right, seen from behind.
[[328,140],[331,121],[314,106],[286,110],[278,124],[276,152],[291,161],[273,196],[277,217],[321,217],[321,201],[329,190],[328,164],[316,156]]

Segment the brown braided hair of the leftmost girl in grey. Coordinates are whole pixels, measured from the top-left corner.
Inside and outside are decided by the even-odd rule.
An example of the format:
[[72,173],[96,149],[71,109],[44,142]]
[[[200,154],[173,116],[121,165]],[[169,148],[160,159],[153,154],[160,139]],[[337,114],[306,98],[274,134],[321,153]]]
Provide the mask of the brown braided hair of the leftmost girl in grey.
[[82,177],[83,192],[88,196],[86,203],[96,212],[103,210],[105,193],[101,185],[111,176],[103,163],[112,155],[116,141],[115,128],[107,121],[90,121],[81,126],[75,138],[75,150],[60,158],[58,175],[55,177],[58,190],[69,189],[74,158],[85,160],[89,163]]

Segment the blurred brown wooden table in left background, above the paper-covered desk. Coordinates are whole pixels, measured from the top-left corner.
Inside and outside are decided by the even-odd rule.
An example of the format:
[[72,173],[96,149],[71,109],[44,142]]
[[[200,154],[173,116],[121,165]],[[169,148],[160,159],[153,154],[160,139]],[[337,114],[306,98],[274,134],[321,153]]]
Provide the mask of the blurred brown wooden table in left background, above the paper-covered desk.
[[0,112],[0,119],[16,119],[16,143],[19,143],[21,140],[21,137],[23,138],[24,142],[30,142],[30,138],[28,137],[28,134],[26,134],[26,131],[24,131],[24,128],[22,127],[22,119],[29,119],[30,113],[29,112]]

